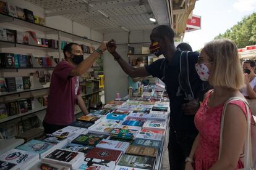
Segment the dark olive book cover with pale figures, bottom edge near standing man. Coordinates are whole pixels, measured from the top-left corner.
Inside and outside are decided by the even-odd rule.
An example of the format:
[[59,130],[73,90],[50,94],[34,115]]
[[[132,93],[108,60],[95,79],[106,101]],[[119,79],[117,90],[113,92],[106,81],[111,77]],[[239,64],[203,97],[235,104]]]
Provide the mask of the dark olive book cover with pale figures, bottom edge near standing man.
[[122,156],[118,165],[153,170],[155,166],[155,158],[148,157],[148,156],[135,156],[135,155],[125,154]]

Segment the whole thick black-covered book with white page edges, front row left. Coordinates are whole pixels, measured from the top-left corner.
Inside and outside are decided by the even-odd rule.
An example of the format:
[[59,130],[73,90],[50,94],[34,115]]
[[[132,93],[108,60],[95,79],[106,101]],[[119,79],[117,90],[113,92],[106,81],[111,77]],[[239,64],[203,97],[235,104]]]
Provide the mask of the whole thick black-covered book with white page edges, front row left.
[[71,152],[69,150],[56,149],[49,155],[41,159],[43,163],[61,164],[69,168],[74,167],[75,163],[84,158],[83,153]]

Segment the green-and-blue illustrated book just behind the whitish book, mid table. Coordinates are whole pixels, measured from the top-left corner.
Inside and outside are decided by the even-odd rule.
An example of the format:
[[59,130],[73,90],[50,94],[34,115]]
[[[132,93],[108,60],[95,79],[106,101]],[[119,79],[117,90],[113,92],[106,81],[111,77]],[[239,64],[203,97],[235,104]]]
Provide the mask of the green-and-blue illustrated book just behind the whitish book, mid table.
[[114,128],[111,131],[110,136],[115,138],[122,138],[122,139],[134,139],[135,136],[138,134],[137,129],[128,129],[125,127],[122,128]]

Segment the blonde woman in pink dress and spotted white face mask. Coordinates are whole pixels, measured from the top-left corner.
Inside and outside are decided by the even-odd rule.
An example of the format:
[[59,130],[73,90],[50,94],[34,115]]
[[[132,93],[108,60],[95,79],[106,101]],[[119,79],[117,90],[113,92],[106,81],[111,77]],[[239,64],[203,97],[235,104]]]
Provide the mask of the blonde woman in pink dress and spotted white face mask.
[[195,115],[198,135],[194,140],[186,170],[220,170],[243,168],[240,159],[243,152],[246,125],[246,108],[240,100],[230,102],[224,118],[223,145],[219,158],[220,124],[224,103],[231,97],[244,96],[239,92],[244,86],[244,74],[239,62],[237,47],[228,39],[208,42],[196,64],[203,81],[209,81],[213,90]]

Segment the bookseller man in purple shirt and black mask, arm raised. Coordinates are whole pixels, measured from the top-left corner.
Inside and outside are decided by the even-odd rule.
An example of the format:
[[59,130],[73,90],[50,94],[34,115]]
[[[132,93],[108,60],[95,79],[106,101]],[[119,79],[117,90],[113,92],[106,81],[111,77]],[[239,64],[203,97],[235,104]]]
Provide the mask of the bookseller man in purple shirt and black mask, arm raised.
[[83,75],[93,63],[106,51],[103,42],[87,59],[83,60],[83,51],[79,44],[69,43],[64,49],[65,59],[58,63],[51,76],[49,101],[43,127],[51,134],[74,121],[75,104],[87,115],[88,110],[80,95],[79,76]]

